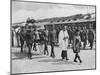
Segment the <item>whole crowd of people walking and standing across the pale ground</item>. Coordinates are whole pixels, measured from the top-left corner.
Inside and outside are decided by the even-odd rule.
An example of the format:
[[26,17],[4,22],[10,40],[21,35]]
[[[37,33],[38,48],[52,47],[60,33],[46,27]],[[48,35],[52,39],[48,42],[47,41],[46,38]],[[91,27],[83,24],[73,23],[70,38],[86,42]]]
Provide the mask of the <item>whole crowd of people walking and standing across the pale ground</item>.
[[[57,35],[58,34],[58,35]],[[67,57],[68,48],[71,48],[75,53],[74,62],[79,59],[80,63],[82,60],[79,56],[80,49],[86,48],[87,44],[90,44],[90,49],[93,48],[95,31],[93,28],[84,27],[71,27],[65,25],[59,33],[53,28],[52,31],[37,30],[31,28],[26,24],[24,27],[20,27],[19,30],[12,30],[12,46],[14,46],[14,35],[16,35],[17,46],[20,47],[21,53],[24,52],[23,47],[26,44],[28,47],[28,57],[32,58],[31,50],[37,51],[37,45],[40,45],[40,54],[49,55],[48,45],[51,46],[51,57],[55,57],[54,47],[56,44],[62,50],[62,59],[69,60]]]

